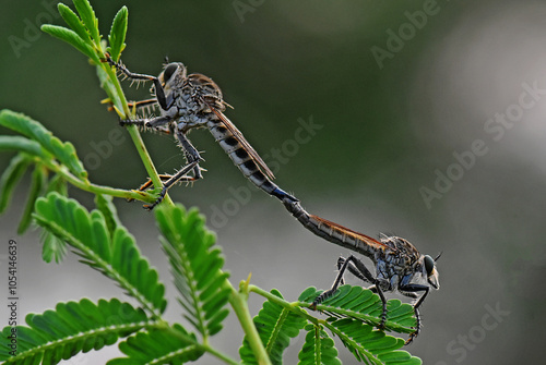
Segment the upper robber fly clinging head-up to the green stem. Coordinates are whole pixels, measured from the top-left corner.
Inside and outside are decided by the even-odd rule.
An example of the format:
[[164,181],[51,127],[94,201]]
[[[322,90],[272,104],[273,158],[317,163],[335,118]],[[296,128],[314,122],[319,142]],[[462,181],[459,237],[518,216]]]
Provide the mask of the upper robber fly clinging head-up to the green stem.
[[[151,210],[159,204],[168,188],[177,182],[202,179],[199,162],[203,159],[187,137],[191,129],[199,127],[209,129],[235,166],[256,186],[278,199],[296,200],[272,182],[273,172],[245,139],[242,133],[224,114],[224,110],[229,105],[224,101],[218,85],[210,77],[200,73],[188,75],[186,66],[180,62],[165,64],[163,72],[155,77],[132,73],[120,62],[111,60],[109,56],[106,61],[128,78],[153,82],[154,98],[136,101],[133,106],[136,108],[158,106],[161,110],[161,115],[155,118],[121,120],[120,123],[146,126],[173,134],[185,151],[187,165],[174,175],[162,175],[162,180],[166,181],[159,197],[153,204],[145,205],[146,209]],[[141,190],[149,186],[150,183],[146,183],[141,186]]]

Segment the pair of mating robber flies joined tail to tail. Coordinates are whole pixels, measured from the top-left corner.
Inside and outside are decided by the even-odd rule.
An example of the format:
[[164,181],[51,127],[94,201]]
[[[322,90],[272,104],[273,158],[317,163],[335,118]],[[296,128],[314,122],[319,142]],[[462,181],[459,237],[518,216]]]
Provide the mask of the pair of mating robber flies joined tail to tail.
[[[377,241],[363,233],[352,231],[343,226],[309,215],[299,204],[299,200],[281,190],[272,182],[273,173],[258,153],[245,139],[239,130],[223,113],[228,106],[222,96],[219,87],[207,76],[202,74],[187,74],[182,63],[173,62],[164,66],[159,76],[150,76],[132,73],[121,63],[107,57],[108,63],[116,66],[124,76],[134,81],[153,82],[154,98],[136,101],[134,107],[158,106],[161,115],[155,118],[122,120],[122,125],[134,124],[152,127],[157,131],[174,134],[185,151],[187,165],[174,175],[166,175],[159,197],[152,205],[144,206],[153,209],[163,200],[167,190],[179,181],[195,181],[201,179],[202,160],[195,147],[191,145],[187,133],[194,127],[206,127],[232,158],[239,170],[254,185],[268,194],[283,202],[286,209],[308,230],[320,238],[341,245],[369,257],[376,266],[376,277],[366,268],[365,264],[351,255],[337,260],[339,275],[332,288],[313,301],[317,306],[327,297],[333,295],[343,283],[343,275],[349,271],[357,278],[371,283],[370,289],[378,293],[382,302],[382,315],[379,327],[387,320],[387,300],[384,291],[399,291],[403,295],[417,299],[414,312],[417,326],[411,333],[406,344],[419,333],[420,317],[418,308],[427,296],[430,287],[439,289],[436,258],[420,255],[406,240],[396,236],[381,235]],[[192,174],[189,174],[192,172]],[[162,177],[163,178],[163,177]],[[147,188],[149,184],[141,186]],[[423,292],[419,297],[417,293]]]

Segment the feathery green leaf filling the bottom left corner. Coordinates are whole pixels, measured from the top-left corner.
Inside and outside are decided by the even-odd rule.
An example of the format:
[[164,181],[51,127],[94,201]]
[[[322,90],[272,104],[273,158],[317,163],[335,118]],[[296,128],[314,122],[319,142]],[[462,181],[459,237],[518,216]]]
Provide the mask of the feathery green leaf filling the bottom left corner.
[[[27,326],[16,326],[16,355],[10,348],[0,349],[2,364],[58,364],[80,352],[111,345],[146,325],[153,325],[142,309],[133,308],[117,299],[99,300],[97,304],[84,299],[57,304],[55,311],[26,316]],[[12,336],[14,327],[4,327],[2,338]],[[4,342],[7,343],[7,342]]]

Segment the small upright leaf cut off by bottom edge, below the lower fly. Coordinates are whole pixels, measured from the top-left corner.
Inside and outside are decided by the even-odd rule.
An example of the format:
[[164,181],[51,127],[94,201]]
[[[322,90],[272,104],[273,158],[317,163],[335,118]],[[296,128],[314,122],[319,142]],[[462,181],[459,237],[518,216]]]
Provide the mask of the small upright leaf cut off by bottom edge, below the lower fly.
[[341,365],[334,340],[320,327],[309,325],[306,329],[308,332],[298,354],[298,365]]

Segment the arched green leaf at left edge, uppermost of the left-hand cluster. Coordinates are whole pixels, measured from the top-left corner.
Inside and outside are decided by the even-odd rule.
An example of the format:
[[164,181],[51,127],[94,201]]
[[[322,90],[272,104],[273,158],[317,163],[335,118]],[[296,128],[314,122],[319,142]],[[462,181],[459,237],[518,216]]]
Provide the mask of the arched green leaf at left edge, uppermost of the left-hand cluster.
[[0,112],[0,125],[36,141],[62,165],[67,166],[73,174],[81,179],[87,179],[87,171],[78,158],[74,146],[70,142],[62,143],[37,121],[25,114],[4,109]]

